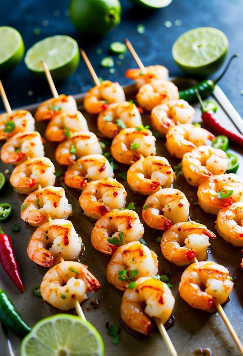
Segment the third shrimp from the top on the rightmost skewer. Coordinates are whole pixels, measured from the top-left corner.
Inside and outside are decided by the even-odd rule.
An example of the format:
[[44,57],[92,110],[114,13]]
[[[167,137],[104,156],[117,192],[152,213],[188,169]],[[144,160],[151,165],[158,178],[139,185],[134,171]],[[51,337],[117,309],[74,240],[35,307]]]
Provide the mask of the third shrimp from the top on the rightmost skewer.
[[151,111],[152,128],[165,135],[171,126],[192,122],[195,110],[183,99],[155,106]]

